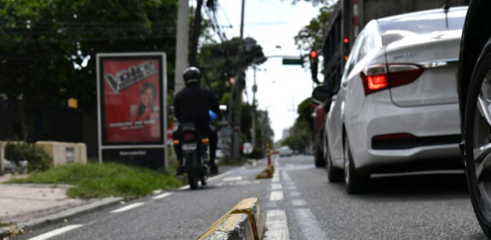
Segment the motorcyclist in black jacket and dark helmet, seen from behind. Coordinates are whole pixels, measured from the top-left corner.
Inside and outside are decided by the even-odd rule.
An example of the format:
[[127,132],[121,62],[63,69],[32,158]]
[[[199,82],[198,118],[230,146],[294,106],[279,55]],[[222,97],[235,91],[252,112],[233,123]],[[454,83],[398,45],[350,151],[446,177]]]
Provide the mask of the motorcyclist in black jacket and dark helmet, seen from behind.
[[[204,135],[210,136],[210,113],[213,111],[217,117],[221,118],[219,111],[219,101],[214,93],[201,86],[201,72],[198,67],[188,67],[183,72],[185,87],[174,98],[174,116],[179,122],[192,122],[196,128]],[[179,129],[174,132],[174,138],[179,134]],[[210,144],[210,170],[211,173],[218,173],[219,169],[215,164],[215,151],[217,146]],[[175,155],[179,161],[176,175],[184,173],[183,150],[180,145],[174,146]]]

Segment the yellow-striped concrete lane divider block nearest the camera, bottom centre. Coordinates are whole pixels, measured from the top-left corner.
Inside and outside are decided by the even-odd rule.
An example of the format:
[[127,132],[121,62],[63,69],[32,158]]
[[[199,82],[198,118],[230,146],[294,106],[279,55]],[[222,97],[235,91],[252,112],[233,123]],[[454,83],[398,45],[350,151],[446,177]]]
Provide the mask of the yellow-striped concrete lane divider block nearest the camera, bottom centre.
[[241,200],[200,236],[200,240],[262,238],[264,221],[259,200]]

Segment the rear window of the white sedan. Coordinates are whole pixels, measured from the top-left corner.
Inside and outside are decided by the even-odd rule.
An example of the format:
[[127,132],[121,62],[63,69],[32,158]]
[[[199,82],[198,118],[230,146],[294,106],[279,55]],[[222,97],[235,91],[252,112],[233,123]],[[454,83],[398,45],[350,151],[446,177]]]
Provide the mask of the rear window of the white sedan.
[[[442,11],[420,14],[403,14],[379,20],[382,45],[401,40],[406,36],[434,35],[461,31],[466,19],[467,8],[451,8],[447,17]],[[448,22],[448,24],[447,24]]]

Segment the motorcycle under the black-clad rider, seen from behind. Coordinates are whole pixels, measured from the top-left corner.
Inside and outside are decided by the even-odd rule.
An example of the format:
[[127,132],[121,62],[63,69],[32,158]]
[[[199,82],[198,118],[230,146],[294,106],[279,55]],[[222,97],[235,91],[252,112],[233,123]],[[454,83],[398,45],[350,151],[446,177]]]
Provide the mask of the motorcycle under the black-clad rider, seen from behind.
[[180,124],[180,138],[174,144],[180,144],[183,149],[183,167],[188,176],[191,189],[197,189],[198,183],[206,186],[209,171],[209,142],[202,136],[193,123]]

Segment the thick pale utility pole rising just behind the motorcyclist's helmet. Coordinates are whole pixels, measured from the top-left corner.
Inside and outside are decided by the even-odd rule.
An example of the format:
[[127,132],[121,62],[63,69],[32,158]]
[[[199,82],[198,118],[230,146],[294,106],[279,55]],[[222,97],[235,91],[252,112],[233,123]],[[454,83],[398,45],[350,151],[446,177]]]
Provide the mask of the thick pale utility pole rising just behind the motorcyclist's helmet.
[[179,0],[177,10],[177,33],[175,37],[174,93],[184,88],[183,72],[188,67],[189,2]]

